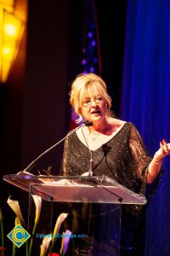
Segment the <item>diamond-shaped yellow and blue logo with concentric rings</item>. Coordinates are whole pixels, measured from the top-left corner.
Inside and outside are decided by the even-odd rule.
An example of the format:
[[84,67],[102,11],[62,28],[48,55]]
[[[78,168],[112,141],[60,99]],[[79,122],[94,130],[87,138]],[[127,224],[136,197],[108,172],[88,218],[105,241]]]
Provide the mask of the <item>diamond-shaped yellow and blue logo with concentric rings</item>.
[[29,237],[30,234],[20,226],[20,224],[15,226],[14,229],[8,233],[8,238],[13,241],[17,247],[21,247]]

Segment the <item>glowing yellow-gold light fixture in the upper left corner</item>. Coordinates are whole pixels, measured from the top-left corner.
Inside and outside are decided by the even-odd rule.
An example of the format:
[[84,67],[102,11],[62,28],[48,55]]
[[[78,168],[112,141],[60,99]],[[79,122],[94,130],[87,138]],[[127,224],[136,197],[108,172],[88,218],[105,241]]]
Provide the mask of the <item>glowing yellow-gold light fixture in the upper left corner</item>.
[[0,1],[0,81],[2,83],[7,81],[13,67],[23,24],[23,20],[14,15],[14,0]]

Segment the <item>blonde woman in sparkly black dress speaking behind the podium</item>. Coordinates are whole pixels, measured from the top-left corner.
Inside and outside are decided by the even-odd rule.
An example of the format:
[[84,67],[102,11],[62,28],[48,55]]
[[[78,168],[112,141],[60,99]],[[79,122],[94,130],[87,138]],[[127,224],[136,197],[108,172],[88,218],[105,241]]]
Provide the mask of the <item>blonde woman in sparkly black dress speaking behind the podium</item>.
[[[111,97],[103,79],[94,73],[80,74],[71,85],[71,106],[93,123],[65,140],[63,175],[82,175],[89,171],[90,152],[95,176],[115,179],[127,189],[145,195],[146,183],[161,173],[162,161],[170,154],[164,139],[153,159],[135,125],[111,113]],[[143,255],[144,207],[122,207],[121,255]]]

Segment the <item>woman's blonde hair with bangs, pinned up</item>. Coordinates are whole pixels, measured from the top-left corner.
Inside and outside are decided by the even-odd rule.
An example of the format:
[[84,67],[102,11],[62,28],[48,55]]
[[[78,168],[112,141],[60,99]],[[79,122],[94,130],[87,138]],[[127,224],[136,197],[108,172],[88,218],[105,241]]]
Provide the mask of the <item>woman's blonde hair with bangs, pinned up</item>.
[[82,102],[86,97],[103,96],[107,105],[107,115],[110,115],[111,96],[107,93],[106,84],[103,79],[94,73],[81,73],[71,84],[70,102],[75,109],[79,119],[77,123],[82,121]]

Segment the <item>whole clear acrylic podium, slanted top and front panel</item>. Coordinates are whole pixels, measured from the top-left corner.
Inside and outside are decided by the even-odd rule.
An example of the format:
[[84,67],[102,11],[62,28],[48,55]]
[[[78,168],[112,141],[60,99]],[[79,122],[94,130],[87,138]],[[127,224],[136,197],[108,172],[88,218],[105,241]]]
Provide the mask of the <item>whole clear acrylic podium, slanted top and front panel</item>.
[[135,194],[105,176],[35,176],[20,172],[3,179],[29,192],[28,231],[31,232],[32,212],[35,211],[31,195],[42,198],[37,234],[53,233],[56,218],[61,212],[68,213],[62,229],[71,230],[74,235],[65,254],[69,256],[76,255],[75,251],[81,255],[81,250],[89,250],[89,247],[93,247],[89,255],[118,256],[122,204],[146,203],[144,195]]

